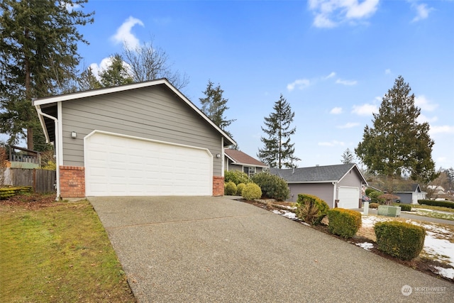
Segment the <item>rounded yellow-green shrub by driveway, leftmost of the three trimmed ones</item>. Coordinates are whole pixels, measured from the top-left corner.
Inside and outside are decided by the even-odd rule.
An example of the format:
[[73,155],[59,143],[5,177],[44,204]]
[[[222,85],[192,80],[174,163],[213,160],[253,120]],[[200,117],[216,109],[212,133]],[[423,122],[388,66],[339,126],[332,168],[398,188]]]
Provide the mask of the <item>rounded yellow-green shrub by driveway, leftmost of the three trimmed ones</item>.
[[[309,206],[306,206],[309,204]],[[313,208],[316,207],[317,212],[313,214]],[[328,214],[329,206],[319,197],[311,194],[298,194],[297,199],[297,217],[309,224],[320,224],[326,214]],[[310,216],[308,216],[310,214]],[[313,217],[313,218],[312,218]]]

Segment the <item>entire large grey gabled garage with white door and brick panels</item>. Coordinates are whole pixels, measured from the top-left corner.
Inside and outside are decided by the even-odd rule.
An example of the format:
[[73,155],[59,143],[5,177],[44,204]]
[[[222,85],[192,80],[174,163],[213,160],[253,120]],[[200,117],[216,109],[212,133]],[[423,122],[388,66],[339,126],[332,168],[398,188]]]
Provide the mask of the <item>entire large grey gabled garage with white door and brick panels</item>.
[[223,194],[224,148],[236,142],[167,79],[33,105],[55,142],[57,197]]

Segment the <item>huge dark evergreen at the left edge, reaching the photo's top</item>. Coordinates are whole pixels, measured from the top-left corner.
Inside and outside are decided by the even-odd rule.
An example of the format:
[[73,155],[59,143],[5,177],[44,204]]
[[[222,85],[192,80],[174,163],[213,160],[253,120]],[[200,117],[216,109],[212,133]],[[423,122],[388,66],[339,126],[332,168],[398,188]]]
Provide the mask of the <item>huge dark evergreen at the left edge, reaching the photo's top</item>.
[[87,0],[3,0],[0,2],[0,131],[9,143],[27,139],[33,150],[33,130],[40,131],[33,98],[62,91],[77,75],[83,42],[77,26],[92,23],[83,13]]

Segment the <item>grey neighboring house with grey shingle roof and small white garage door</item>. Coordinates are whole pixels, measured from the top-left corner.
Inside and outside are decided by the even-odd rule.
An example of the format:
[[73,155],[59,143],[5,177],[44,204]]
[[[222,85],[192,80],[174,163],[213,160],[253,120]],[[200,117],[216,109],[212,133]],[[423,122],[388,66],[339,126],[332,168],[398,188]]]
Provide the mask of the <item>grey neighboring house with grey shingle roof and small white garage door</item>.
[[298,194],[313,194],[323,199],[328,206],[344,209],[361,207],[361,188],[367,185],[356,164],[341,164],[278,169],[271,168],[272,174],[287,181],[290,199],[296,202]]

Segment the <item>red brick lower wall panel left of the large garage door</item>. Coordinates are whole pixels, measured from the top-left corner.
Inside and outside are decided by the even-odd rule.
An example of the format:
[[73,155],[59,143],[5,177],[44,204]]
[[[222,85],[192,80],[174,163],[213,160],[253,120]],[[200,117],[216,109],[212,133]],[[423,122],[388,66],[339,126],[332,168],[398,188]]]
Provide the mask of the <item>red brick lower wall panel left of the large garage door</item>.
[[60,196],[85,197],[85,167],[60,166]]

